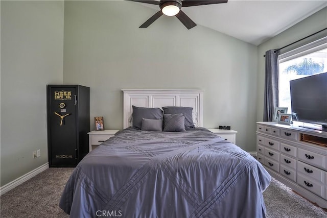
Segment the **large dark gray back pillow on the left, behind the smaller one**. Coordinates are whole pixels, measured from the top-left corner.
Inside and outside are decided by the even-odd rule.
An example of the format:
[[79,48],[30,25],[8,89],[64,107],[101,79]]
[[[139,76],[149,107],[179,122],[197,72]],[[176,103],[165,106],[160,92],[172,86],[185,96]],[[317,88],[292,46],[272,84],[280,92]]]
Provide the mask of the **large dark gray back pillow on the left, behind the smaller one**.
[[142,108],[142,107],[136,107],[132,105],[133,107],[133,127],[136,129],[141,129],[142,126],[142,118],[147,119],[162,119],[164,118],[162,116],[162,110],[160,108]]

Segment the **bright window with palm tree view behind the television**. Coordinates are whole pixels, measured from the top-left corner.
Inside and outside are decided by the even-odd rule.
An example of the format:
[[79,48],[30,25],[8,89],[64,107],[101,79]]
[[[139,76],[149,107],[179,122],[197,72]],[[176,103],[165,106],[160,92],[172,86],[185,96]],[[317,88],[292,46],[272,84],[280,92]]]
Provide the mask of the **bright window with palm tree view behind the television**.
[[327,37],[278,56],[278,107],[291,108],[290,81],[327,72]]

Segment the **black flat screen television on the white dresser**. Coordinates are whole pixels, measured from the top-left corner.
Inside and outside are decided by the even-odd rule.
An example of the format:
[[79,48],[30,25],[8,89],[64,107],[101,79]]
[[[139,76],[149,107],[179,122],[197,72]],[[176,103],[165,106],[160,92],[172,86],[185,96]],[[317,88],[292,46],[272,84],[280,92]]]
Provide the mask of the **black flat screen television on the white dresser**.
[[292,119],[327,131],[327,72],[290,81]]

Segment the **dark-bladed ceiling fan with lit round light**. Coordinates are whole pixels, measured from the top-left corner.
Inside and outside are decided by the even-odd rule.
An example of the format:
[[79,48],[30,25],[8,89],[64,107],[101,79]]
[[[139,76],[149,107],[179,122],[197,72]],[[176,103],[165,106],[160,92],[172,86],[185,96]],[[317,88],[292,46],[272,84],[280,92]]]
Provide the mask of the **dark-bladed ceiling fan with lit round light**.
[[156,19],[158,19],[162,14],[165,14],[167,16],[176,16],[183,25],[188,28],[189,30],[196,26],[196,23],[191,20],[188,15],[186,15],[184,12],[182,12],[180,9],[182,7],[191,7],[191,6],[200,6],[200,5],[212,5],[212,4],[221,4],[221,3],[227,3],[227,1],[201,1],[201,0],[161,0],[155,1],[155,0],[130,0],[132,2],[140,2],[140,3],[148,3],[151,5],[159,5],[160,11],[155,13],[152,17],[150,17],[147,21],[143,23],[139,28],[147,28],[153,23]]

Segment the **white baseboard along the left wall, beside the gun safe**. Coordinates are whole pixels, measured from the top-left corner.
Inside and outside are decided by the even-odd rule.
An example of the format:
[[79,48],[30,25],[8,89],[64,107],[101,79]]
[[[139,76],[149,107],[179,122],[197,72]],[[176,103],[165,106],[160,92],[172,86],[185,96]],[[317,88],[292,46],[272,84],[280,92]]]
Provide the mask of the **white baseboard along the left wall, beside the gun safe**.
[[30,171],[29,173],[22,175],[21,177],[7,183],[4,186],[0,187],[0,196],[2,196],[7,191],[10,191],[14,187],[26,182],[27,180],[31,179],[32,177],[36,176],[37,174],[45,171],[45,169],[49,168],[49,163],[44,163],[43,165],[33,169],[33,171]]

